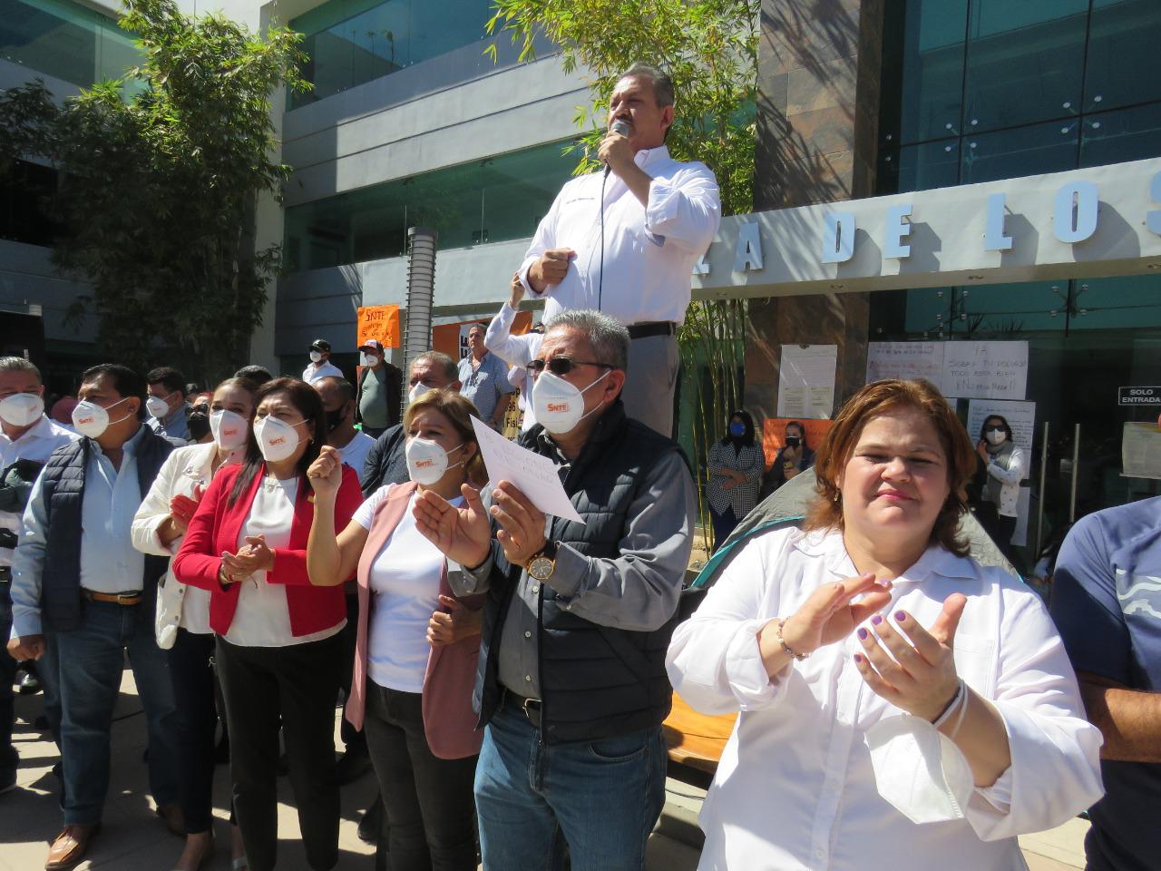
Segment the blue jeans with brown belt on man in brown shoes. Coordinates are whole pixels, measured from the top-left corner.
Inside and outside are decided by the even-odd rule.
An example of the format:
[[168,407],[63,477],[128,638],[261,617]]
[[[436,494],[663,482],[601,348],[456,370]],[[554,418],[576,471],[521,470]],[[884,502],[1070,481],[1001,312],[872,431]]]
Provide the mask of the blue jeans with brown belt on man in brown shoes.
[[145,708],[149,780],[158,805],[178,801],[178,717],[166,653],[153,638],[152,596],[138,605],[81,604],[80,626],[55,633],[60,662],[65,823],[100,822],[109,789],[109,733],[125,652]]

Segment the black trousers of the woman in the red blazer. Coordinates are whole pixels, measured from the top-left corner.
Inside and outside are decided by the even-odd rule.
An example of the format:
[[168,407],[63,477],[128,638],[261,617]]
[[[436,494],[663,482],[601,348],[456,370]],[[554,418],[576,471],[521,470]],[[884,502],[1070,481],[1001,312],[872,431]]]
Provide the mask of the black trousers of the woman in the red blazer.
[[288,647],[239,647],[217,638],[235,813],[251,871],[272,871],[277,858],[280,726],[307,861],[326,871],[339,859],[334,699],[341,654],[339,634]]

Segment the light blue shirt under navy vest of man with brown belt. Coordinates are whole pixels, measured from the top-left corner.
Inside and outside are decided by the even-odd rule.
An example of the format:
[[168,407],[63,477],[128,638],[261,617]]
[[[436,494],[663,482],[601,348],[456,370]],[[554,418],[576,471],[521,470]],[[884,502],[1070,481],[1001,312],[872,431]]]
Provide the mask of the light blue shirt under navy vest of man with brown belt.
[[[101,446],[88,439],[85,495],[80,508],[80,585],[94,592],[135,592],[142,589],[145,555],[134,549],[131,528],[142,504],[137,483],[137,446],[149,427],[142,425],[124,444],[121,468],[115,469]],[[24,508],[20,544],[12,560],[12,634],[39,635],[41,573],[48,541],[42,474]]]

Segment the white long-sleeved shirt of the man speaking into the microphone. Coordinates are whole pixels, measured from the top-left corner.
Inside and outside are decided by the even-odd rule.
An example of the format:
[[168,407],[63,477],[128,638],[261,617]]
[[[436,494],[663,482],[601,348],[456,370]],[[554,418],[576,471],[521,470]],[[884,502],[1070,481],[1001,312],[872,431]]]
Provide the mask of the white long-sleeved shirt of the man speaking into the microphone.
[[[565,182],[520,266],[520,281],[545,298],[545,319],[569,309],[599,308],[622,324],[680,324],[690,304],[690,275],[717,232],[717,180],[701,163],[683,164],[664,145],[634,158],[652,177],[648,206],[616,173],[605,180],[605,280],[600,285],[600,186],[604,172]],[[577,252],[560,285],[538,294],[528,267],[548,249]]]

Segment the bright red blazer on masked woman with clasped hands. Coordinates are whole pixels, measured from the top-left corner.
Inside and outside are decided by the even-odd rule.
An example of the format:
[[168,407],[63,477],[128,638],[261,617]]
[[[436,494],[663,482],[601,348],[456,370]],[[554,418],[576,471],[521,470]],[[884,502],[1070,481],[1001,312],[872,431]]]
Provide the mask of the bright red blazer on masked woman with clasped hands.
[[[250,490],[230,505],[230,490],[240,470],[241,466],[228,466],[214,476],[197,505],[197,512],[189,521],[181,549],[173,557],[173,574],[181,583],[210,591],[210,628],[218,635],[225,635],[230,631],[241,591],[241,584],[230,584],[223,589],[218,583],[222,552],[237,552],[238,535],[266,474],[264,467],[254,477]],[[361,502],[359,476],[354,469],[344,466],[342,483],[334,501],[336,534],[347,527]],[[295,636],[329,629],[347,616],[342,584],[312,586],[307,575],[307,539],[313,516],[315,494],[301,485],[294,506],[290,544],[288,547],[274,548],[274,569],[266,576],[267,583],[286,584],[290,632]]]

